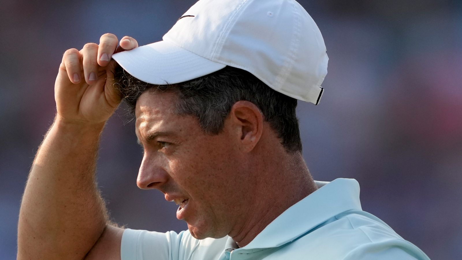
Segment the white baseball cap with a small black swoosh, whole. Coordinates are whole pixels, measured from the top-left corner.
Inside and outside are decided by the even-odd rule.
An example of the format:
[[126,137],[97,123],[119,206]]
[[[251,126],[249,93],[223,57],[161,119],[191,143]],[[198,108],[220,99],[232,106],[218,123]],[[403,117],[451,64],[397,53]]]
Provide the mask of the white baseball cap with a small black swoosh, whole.
[[156,85],[231,66],[292,98],[315,105],[321,99],[326,46],[295,0],[199,0],[162,39],[112,58],[135,78]]

